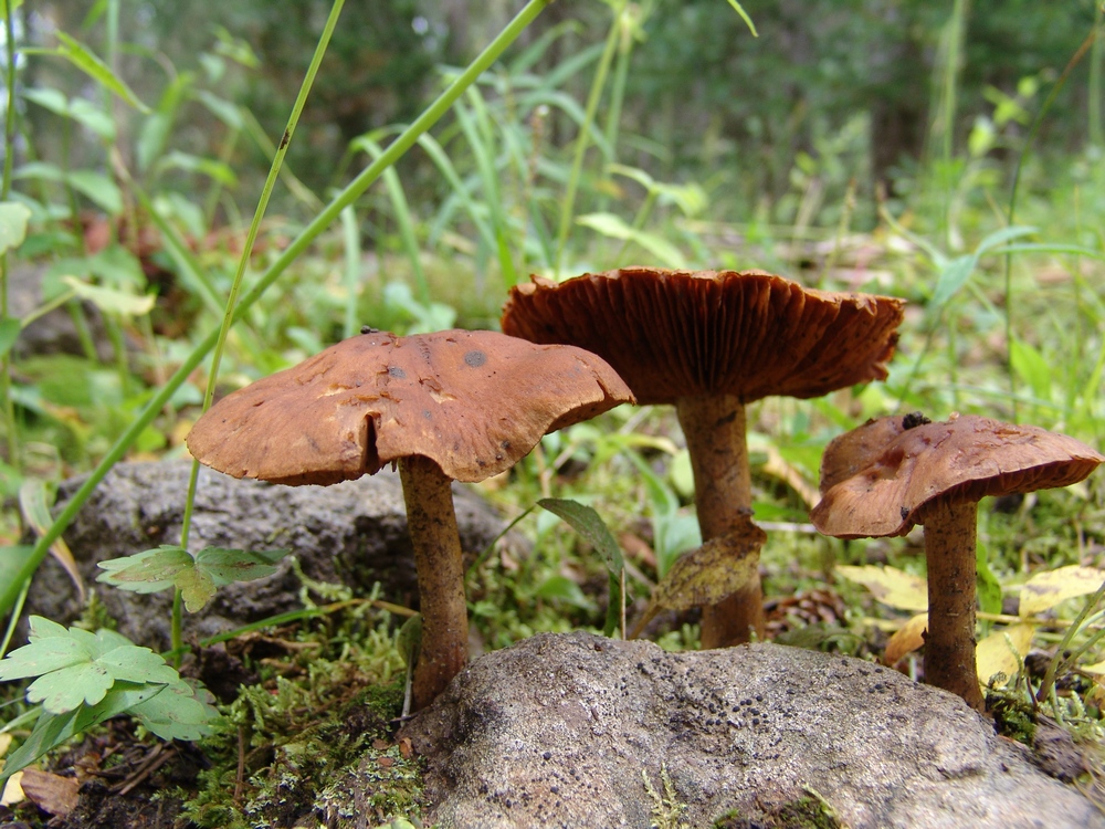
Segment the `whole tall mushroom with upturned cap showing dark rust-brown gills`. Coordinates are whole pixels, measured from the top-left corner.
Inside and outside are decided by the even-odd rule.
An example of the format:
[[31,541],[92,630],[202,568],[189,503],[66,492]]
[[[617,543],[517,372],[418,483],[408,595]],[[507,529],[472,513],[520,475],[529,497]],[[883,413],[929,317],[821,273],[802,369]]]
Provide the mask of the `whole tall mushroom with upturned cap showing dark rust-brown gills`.
[[[751,508],[745,407],[886,377],[902,301],[806,288],[759,271],[624,267],[512,290],[503,330],[602,356],[641,403],[674,403],[703,541]],[[764,634],[758,575],[703,610],[703,648]]]

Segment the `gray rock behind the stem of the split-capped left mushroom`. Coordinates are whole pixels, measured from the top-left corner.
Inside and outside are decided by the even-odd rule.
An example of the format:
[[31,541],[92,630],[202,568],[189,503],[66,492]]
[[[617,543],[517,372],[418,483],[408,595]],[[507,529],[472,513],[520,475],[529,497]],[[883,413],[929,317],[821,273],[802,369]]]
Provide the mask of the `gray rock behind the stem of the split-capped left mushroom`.
[[[86,584],[97,588],[119,632],[161,650],[169,646],[169,591],[139,595],[95,585],[97,562],[180,541],[189,461],[120,463],[99,483],[65,533]],[[84,478],[62,484],[60,511]],[[482,550],[503,522],[470,490],[454,489],[461,544]],[[376,581],[381,598],[413,607],[418,599],[399,476],[390,472],[334,486],[280,486],[200,471],[189,548],[286,547],[312,579],[349,586],[358,595]],[[302,607],[302,583],[285,559],[264,579],[228,585],[201,612],[185,613],[186,634],[211,636]],[[81,612],[69,577],[53,559],[35,576],[29,610],[64,621]]]

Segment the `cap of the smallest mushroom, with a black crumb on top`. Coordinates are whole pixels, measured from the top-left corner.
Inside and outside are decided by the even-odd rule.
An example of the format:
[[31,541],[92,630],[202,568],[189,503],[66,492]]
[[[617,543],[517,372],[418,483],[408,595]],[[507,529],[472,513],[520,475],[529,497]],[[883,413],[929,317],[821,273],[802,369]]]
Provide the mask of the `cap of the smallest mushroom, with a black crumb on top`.
[[[1085,443],[1034,426],[965,414],[908,429],[902,420],[860,427],[885,442],[862,443],[857,454],[866,453],[870,463],[825,487],[810,513],[819,532],[838,538],[904,535],[925,523],[926,506],[937,501],[1070,486],[1105,461]],[[855,440],[840,436],[825,449],[827,458],[848,454],[833,444],[855,445]]]

